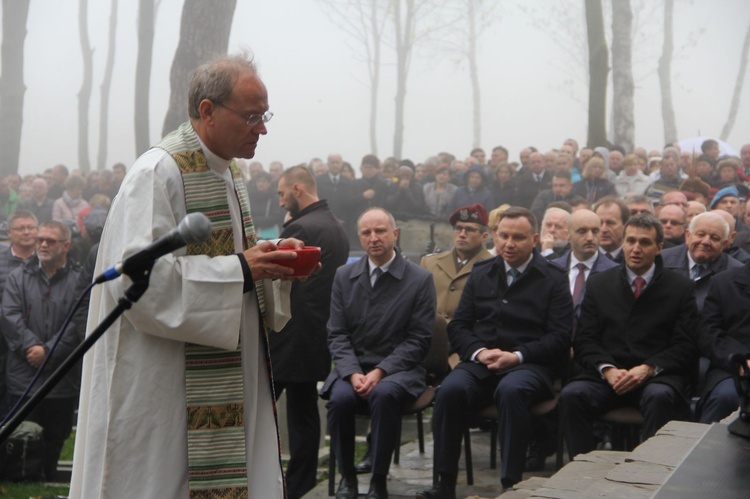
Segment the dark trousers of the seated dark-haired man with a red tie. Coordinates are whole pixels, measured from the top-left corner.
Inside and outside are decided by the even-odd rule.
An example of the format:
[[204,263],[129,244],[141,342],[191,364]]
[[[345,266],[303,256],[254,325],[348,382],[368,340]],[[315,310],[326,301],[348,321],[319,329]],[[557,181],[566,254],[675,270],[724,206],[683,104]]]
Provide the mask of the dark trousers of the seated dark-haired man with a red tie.
[[671,386],[648,383],[624,395],[617,395],[604,380],[576,380],[560,393],[561,431],[565,434],[571,460],[594,450],[593,421],[620,407],[637,407],[643,414],[643,438],[684,413],[685,401]]

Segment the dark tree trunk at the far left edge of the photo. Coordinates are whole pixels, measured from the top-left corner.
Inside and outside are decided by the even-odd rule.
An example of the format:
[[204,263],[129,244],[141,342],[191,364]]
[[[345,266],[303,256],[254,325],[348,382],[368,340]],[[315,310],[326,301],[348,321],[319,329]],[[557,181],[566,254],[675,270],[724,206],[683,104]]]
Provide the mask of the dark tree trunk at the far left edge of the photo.
[[0,175],[5,177],[18,171],[23,126],[24,41],[26,20],[29,17],[29,0],[3,0],[3,41],[0,49],[2,76],[0,76]]

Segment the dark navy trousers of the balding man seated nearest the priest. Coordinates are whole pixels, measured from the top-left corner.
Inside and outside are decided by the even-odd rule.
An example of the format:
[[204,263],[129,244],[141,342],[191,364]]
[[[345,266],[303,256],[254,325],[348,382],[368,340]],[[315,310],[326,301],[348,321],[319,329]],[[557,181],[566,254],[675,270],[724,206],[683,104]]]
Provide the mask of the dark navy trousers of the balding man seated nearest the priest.
[[356,474],[354,468],[354,417],[370,415],[372,472],[387,475],[396,447],[403,407],[414,397],[388,379],[381,380],[367,400],[360,398],[351,383],[337,379],[331,386],[328,409],[328,433],[331,447],[343,476]]

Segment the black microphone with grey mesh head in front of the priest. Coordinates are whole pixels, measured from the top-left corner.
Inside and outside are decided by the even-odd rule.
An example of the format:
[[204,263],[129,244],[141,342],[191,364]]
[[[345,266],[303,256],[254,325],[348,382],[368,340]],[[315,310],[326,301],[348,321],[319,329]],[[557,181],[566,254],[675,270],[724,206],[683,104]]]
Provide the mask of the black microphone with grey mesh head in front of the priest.
[[175,227],[141,251],[121,261],[94,279],[94,284],[130,275],[153,265],[154,261],[188,244],[202,243],[211,236],[211,221],[203,213],[190,213]]

